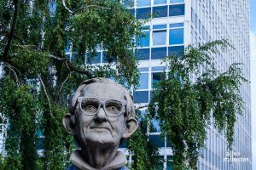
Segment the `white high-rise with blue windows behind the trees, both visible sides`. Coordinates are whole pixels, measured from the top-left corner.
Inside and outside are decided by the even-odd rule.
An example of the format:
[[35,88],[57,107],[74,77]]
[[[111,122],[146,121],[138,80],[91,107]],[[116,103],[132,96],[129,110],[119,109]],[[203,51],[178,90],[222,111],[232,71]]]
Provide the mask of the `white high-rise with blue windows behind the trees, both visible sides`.
[[[137,19],[145,19],[148,14],[154,14],[154,19],[144,27],[146,36],[138,40],[140,43],[137,47],[137,58],[140,60],[141,86],[134,93],[135,101],[148,103],[154,82],[160,78],[158,72],[163,71],[160,59],[165,54],[171,55],[173,50],[182,49],[191,43],[229,40],[234,49],[214,56],[215,65],[219,71],[227,71],[231,63],[244,63],[244,76],[250,80],[248,5],[247,0],[137,0],[131,7],[131,13]],[[203,70],[202,66],[201,71]],[[224,135],[211,127],[207,134],[207,149],[201,150],[204,158],[198,161],[199,169],[252,169],[249,82],[242,84],[241,95],[245,101],[245,109],[243,116],[237,116],[234,152],[227,153]],[[162,158],[170,158],[172,150],[168,147],[168,141],[158,138],[158,123],[153,120],[152,125],[153,131],[148,130],[150,139],[160,146]],[[248,160],[225,162],[224,158],[234,153]],[[163,167],[172,168],[166,163]]]

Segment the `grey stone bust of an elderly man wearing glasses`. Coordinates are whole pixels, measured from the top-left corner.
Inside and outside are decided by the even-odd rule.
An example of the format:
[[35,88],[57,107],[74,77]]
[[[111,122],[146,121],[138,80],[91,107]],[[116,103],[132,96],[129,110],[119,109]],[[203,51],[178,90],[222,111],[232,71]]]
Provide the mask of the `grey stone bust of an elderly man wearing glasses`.
[[70,169],[126,169],[118,148],[137,130],[131,94],[107,78],[93,78],[81,83],[69,110],[62,122],[81,148],[70,156]]

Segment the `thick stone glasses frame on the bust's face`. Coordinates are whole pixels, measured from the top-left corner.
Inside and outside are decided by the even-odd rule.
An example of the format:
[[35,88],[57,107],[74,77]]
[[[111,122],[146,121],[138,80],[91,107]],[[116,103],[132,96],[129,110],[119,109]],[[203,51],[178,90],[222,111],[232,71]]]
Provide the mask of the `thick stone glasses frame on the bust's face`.
[[[82,109],[82,101],[83,99],[96,99],[99,101],[99,107],[97,109],[97,111],[94,113],[94,114],[88,114],[86,113],[85,111],[83,111]],[[116,116],[111,116],[111,115],[108,115],[108,112],[106,110],[106,102],[108,100],[114,100],[114,101],[118,101],[122,104],[122,111],[120,111],[120,113]],[[119,99],[106,99],[106,100],[101,100],[101,99],[97,99],[95,97],[78,97],[77,99],[77,102],[76,102],[76,105],[75,105],[75,108],[78,106],[78,103],[79,103],[79,110],[82,111],[84,113],[84,115],[87,115],[87,116],[96,116],[96,114],[100,111],[101,108],[103,108],[103,110],[105,111],[105,114],[107,116],[110,116],[110,117],[117,117],[117,116],[120,116],[122,113],[124,113],[124,109],[126,111],[126,105],[127,105],[127,101],[126,100],[119,100]]]

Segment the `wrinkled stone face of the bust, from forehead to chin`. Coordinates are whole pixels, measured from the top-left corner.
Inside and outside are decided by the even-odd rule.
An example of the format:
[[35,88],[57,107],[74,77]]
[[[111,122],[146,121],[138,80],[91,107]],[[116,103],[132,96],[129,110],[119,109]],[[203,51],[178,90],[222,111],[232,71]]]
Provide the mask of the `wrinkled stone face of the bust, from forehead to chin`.
[[119,144],[125,133],[126,122],[125,105],[118,101],[125,101],[124,92],[114,84],[96,82],[83,89],[75,130],[81,145]]

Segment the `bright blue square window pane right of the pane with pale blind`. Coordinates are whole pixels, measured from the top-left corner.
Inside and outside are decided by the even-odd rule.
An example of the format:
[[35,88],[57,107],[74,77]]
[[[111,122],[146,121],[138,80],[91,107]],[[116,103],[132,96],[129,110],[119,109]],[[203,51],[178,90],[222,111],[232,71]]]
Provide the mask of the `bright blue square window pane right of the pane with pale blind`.
[[184,42],[184,29],[171,29],[169,34],[169,44],[183,44]]

